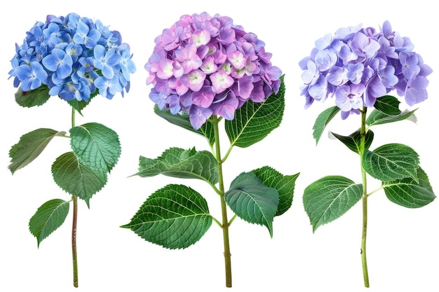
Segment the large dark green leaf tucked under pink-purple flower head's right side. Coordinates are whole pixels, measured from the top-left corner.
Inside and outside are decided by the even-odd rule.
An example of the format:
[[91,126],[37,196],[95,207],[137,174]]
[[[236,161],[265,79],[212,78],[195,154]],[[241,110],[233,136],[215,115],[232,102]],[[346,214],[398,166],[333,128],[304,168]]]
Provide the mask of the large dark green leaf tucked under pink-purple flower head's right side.
[[235,112],[233,120],[226,120],[225,128],[231,146],[245,148],[264,139],[281,125],[285,109],[285,84],[277,95],[270,95],[264,102],[248,100]]

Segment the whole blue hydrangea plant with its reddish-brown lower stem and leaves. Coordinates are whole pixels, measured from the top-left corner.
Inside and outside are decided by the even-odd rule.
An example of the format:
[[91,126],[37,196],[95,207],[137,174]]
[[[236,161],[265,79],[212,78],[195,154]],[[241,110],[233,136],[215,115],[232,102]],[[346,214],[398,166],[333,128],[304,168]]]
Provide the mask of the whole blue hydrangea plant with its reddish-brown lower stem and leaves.
[[[75,113],[81,113],[91,99],[102,95],[112,99],[128,92],[130,74],[135,72],[130,47],[121,34],[100,20],[76,13],[36,22],[22,45],[16,44],[11,60],[13,85],[18,88],[16,102],[23,107],[41,106],[58,96],[72,108],[72,127],[65,131],[39,128],[22,135],[11,147],[9,169],[14,174],[25,167],[55,137],[68,138],[71,152],[53,162],[53,180],[72,200],[53,199],[41,205],[29,221],[29,230],[39,245],[64,223],[73,204],[72,254],[74,286],[78,286],[76,221],[78,198],[89,206],[91,197],[107,183],[107,176],[121,154],[119,136],[100,123],[76,125]],[[82,113],[81,113],[82,114]]]

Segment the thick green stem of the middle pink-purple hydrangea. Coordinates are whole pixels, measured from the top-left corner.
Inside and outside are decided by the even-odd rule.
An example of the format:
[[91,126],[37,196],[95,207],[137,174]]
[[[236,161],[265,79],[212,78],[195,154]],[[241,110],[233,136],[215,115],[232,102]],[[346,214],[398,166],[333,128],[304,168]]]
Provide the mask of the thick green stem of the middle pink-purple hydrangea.
[[221,158],[221,147],[219,145],[219,120],[217,116],[212,116],[213,129],[215,132],[215,155],[219,166],[219,192],[221,193],[221,214],[222,214],[222,237],[224,242],[224,265],[226,271],[226,287],[231,287],[231,253],[229,244],[229,220],[227,219],[227,204],[224,200],[224,178],[222,175],[222,158]]

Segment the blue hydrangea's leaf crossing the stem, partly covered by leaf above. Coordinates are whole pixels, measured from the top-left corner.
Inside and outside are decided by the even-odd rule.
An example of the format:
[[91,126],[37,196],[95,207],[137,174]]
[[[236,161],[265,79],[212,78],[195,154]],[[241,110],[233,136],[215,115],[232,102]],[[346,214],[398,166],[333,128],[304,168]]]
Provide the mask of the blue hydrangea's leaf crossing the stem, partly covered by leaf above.
[[53,162],[52,175],[60,188],[85,200],[88,207],[90,198],[107,183],[106,172],[82,165],[73,152],[64,153]]

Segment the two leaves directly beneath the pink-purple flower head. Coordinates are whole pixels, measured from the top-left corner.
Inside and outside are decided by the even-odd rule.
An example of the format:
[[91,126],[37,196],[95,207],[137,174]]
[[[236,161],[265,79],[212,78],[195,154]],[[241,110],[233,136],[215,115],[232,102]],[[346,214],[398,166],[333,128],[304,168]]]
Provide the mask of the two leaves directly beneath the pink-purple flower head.
[[[281,125],[285,109],[285,83],[281,76],[281,86],[277,95],[272,94],[264,102],[248,100],[235,111],[233,120],[226,120],[225,130],[231,146],[248,147],[264,139],[271,131]],[[203,135],[209,145],[215,143],[215,134],[211,123],[205,123],[200,129],[194,130],[189,122],[187,113],[173,115],[170,111],[163,111],[154,106],[154,112],[169,123],[177,125],[191,132]]]

